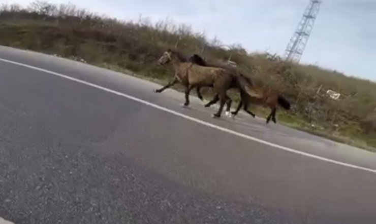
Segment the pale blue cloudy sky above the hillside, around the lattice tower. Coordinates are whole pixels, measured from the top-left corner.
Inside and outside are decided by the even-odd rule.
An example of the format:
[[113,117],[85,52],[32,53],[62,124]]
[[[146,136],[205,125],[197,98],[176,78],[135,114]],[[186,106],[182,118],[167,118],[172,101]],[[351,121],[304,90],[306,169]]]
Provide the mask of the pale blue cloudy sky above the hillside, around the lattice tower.
[[[0,0],[28,4],[30,0]],[[50,3],[68,3],[50,0]],[[308,0],[73,0],[74,5],[118,19],[167,17],[247,51],[283,56]],[[201,3],[200,3],[201,2]],[[323,0],[301,63],[318,64],[376,81],[376,0]]]

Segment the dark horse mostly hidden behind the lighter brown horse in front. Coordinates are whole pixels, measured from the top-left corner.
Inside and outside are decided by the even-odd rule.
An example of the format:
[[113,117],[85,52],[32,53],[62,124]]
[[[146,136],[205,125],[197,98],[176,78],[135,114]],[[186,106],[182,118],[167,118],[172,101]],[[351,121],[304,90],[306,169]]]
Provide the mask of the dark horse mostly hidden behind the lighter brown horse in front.
[[[192,55],[188,60],[190,62],[192,62],[192,63],[198,64],[198,65],[201,65],[201,66],[220,67],[220,68],[228,69],[232,73],[237,74],[237,77],[236,77],[237,79],[233,79],[233,82],[231,83],[231,88],[239,90],[240,100],[241,101],[243,101],[242,99],[244,97],[246,97],[246,95],[247,95],[247,93],[246,93],[246,91],[245,91],[244,88],[248,87],[248,86],[253,86],[254,85],[253,82],[252,82],[252,80],[250,80],[249,77],[245,76],[241,72],[238,72],[238,70],[236,68],[232,67],[232,66],[225,65],[225,64],[209,64],[209,63],[207,63],[198,54]],[[198,98],[200,98],[201,100],[203,100],[203,97],[201,95],[200,90],[201,90],[200,87],[196,88],[197,96],[198,96]],[[218,95],[215,95],[210,102],[208,102],[207,104],[205,104],[205,107],[210,107],[211,105],[213,105],[214,103],[216,103],[218,100],[219,100]],[[244,101],[244,107],[243,107],[243,109],[244,109],[244,111],[246,111],[247,114],[251,115],[252,117],[256,116],[254,113],[252,113],[251,111],[248,110],[248,101],[247,100]],[[227,105],[226,115],[227,116],[231,116],[231,114],[232,113],[230,113],[230,106]]]

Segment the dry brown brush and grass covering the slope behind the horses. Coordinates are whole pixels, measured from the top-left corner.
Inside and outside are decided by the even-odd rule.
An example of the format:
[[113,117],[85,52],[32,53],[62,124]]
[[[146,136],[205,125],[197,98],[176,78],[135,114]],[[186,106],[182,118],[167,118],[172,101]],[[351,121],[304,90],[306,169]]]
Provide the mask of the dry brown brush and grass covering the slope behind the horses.
[[[299,65],[276,55],[250,53],[239,45],[222,48],[190,26],[147,19],[119,21],[74,5],[34,2],[27,7],[0,6],[0,45],[28,49],[118,70],[165,84],[172,67],[156,66],[167,48],[177,46],[189,56],[209,61],[231,61],[258,85],[283,92],[292,110],[280,109],[277,120],[301,130],[367,150],[376,148],[376,83],[349,77],[316,65]],[[341,93],[335,100],[327,90]],[[211,97],[210,89],[205,95]],[[238,100],[238,94],[232,98]],[[268,108],[250,108],[266,118]],[[273,125],[273,124],[270,124]]]

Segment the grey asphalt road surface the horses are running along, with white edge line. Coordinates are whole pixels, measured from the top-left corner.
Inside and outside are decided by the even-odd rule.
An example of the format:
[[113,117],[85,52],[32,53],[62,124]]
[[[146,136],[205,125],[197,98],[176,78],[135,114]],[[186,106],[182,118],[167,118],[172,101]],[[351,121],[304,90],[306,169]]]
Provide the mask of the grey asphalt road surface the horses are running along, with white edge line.
[[0,216],[375,223],[374,154],[264,118],[213,119],[215,108],[194,97],[182,108],[182,94],[158,87],[0,47]]

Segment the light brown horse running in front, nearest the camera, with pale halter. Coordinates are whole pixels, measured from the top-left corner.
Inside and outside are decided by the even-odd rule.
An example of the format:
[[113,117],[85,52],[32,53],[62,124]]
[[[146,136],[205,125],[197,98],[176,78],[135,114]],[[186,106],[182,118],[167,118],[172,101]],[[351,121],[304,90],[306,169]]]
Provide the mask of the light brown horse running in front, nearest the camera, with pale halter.
[[180,82],[185,87],[185,102],[184,106],[189,105],[189,94],[193,88],[197,87],[212,87],[218,99],[220,100],[220,108],[213,117],[221,117],[225,103],[231,107],[231,99],[227,95],[227,90],[230,88],[233,81],[233,74],[226,69],[217,67],[205,67],[187,61],[179,52],[168,49],[163,53],[158,63],[163,65],[171,62],[175,76],[173,81],[166,86],[155,90],[161,93],[165,89]]

